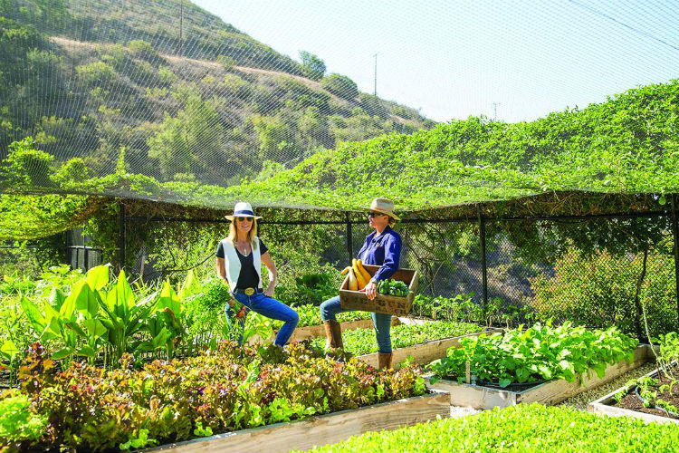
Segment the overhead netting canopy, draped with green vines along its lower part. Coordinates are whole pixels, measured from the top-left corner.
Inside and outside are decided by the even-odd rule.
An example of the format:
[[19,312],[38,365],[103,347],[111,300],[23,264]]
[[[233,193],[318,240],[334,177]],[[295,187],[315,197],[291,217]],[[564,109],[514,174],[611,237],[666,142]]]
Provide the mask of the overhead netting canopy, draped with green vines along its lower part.
[[[303,20],[290,24],[318,33],[337,17],[325,34],[349,47],[374,40],[387,64],[401,49],[403,66],[380,69],[396,99],[387,101],[377,80],[369,93],[327,71],[331,54],[292,58],[188,1],[2,0],[3,204],[10,194],[97,194],[356,209],[389,197],[417,211],[555,190],[679,192],[679,8],[561,3],[336,2],[315,22],[301,3],[270,5],[269,16],[293,14]],[[339,19],[349,11],[351,24]],[[541,80],[554,62],[558,75]],[[534,87],[531,97],[516,111],[505,101],[513,113],[498,119],[493,96],[515,101],[517,84]],[[488,111],[460,110],[469,100],[451,94],[457,85],[488,96]],[[406,105],[432,99],[435,119]],[[518,112],[531,103],[541,110]],[[87,216],[81,198],[68,199],[62,210]]]

